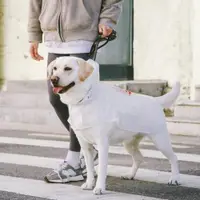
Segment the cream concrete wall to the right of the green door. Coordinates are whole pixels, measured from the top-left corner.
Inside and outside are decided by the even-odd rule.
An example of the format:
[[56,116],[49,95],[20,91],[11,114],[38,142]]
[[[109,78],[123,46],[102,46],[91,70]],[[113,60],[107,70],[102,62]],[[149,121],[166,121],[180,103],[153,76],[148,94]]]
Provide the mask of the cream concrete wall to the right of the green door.
[[136,79],[180,80],[195,96],[200,83],[200,2],[135,0]]

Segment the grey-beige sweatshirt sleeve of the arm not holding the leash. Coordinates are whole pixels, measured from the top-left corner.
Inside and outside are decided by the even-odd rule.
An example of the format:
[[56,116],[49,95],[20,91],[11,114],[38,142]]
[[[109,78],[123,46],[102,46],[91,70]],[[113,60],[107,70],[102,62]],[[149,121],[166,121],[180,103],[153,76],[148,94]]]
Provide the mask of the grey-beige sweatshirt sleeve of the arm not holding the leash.
[[28,14],[29,42],[42,42],[42,30],[39,21],[41,7],[42,7],[42,0],[29,0],[29,14]]

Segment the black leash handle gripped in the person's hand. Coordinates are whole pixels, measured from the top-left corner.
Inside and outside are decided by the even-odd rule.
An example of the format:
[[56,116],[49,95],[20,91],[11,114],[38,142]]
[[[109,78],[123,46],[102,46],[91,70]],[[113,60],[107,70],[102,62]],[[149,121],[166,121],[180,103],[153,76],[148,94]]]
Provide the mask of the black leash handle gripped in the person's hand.
[[[116,37],[117,37],[117,33],[114,30],[108,37],[102,37],[102,34],[99,33],[91,47],[89,58],[92,60],[96,60],[97,50],[104,47],[108,42],[114,40]],[[100,42],[104,42],[104,43],[99,46]]]

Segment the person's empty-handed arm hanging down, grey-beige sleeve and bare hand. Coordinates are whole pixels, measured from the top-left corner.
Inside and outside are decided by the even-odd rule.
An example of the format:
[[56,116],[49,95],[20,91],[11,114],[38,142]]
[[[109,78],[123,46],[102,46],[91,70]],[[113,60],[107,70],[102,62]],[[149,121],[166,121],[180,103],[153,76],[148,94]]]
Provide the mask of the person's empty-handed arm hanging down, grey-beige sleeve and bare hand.
[[29,15],[28,15],[28,40],[30,42],[29,53],[31,57],[37,61],[44,59],[38,53],[39,43],[42,42],[42,30],[39,21],[41,7],[42,7],[42,0],[29,0]]

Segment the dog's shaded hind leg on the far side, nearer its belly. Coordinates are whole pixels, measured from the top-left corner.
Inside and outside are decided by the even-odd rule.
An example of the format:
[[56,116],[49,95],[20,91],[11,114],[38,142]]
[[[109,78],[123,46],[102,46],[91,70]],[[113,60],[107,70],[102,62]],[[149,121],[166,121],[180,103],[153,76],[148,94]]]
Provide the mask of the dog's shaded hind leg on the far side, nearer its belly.
[[133,140],[123,142],[125,149],[133,158],[133,165],[131,168],[131,173],[123,176],[122,179],[134,179],[140,164],[143,162],[143,156],[139,150],[139,144],[142,139],[143,136],[137,135],[133,138]]

